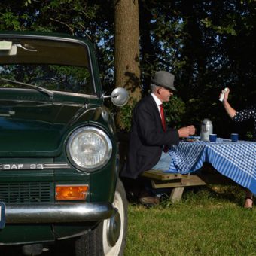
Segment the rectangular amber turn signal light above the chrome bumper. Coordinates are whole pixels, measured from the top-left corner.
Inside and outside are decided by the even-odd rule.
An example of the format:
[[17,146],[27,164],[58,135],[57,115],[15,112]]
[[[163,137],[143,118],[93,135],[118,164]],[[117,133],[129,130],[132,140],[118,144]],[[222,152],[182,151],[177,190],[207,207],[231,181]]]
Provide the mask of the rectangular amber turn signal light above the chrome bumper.
[[85,200],[88,185],[56,185],[55,200]]

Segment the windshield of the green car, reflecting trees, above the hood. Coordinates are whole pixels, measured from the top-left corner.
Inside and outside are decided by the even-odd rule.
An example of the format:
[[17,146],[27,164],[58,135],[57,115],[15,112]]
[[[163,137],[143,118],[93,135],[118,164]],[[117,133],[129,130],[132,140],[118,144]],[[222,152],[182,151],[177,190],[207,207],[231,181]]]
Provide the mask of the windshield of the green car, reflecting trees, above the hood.
[[0,38],[0,88],[95,94],[86,44],[42,38]]

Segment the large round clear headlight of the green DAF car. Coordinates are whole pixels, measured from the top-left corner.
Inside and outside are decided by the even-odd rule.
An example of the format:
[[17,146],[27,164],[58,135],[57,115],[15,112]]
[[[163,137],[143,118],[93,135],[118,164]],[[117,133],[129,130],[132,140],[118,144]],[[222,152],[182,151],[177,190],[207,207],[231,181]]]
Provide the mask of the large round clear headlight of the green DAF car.
[[72,133],[66,150],[69,160],[78,169],[93,171],[108,162],[112,143],[102,130],[86,126]]

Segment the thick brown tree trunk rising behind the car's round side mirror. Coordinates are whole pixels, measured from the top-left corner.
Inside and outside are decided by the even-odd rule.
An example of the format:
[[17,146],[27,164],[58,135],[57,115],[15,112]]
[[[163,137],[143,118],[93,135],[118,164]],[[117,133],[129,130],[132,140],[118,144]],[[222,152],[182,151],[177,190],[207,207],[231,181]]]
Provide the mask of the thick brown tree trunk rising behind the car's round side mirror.
[[131,99],[141,98],[138,0],[114,0],[115,86],[125,87]]

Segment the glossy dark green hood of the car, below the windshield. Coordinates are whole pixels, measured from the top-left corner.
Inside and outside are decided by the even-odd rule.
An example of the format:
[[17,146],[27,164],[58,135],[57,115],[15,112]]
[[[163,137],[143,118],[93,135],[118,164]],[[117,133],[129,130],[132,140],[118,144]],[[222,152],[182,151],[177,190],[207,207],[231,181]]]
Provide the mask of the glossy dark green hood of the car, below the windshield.
[[0,98],[0,156],[57,156],[66,135],[92,120],[97,107],[85,99],[60,102]]

